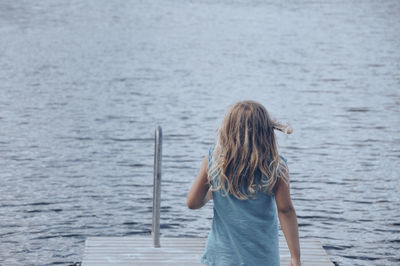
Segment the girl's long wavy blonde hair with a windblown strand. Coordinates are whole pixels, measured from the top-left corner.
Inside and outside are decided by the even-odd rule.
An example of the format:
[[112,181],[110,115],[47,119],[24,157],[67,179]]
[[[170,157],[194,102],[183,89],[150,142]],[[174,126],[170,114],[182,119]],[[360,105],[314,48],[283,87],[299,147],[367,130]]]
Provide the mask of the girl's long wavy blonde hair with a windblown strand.
[[257,190],[272,193],[279,178],[287,182],[288,170],[278,154],[275,129],[292,133],[289,125],[272,120],[260,103],[235,103],[218,130],[208,170],[209,184],[216,181],[213,190],[245,200]]

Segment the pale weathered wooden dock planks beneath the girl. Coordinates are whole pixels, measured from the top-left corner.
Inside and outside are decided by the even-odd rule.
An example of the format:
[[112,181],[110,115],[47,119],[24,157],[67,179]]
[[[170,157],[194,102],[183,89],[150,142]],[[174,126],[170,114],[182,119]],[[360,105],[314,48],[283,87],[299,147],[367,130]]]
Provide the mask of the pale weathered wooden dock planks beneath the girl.
[[[82,266],[140,265],[176,266],[203,265],[206,238],[161,238],[161,247],[154,248],[151,236],[91,237],[86,240]],[[290,265],[286,241],[280,241],[281,265]],[[300,239],[302,266],[333,266],[321,243]]]

